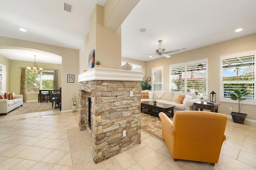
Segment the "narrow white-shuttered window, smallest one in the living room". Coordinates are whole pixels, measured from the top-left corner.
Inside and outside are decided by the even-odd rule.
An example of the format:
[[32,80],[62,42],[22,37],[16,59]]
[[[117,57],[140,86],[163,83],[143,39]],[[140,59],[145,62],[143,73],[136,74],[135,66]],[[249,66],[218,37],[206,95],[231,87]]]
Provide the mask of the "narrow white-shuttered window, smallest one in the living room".
[[164,84],[164,66],[152,68],[152,87],[151,90],[163,90]]

